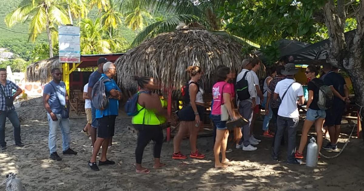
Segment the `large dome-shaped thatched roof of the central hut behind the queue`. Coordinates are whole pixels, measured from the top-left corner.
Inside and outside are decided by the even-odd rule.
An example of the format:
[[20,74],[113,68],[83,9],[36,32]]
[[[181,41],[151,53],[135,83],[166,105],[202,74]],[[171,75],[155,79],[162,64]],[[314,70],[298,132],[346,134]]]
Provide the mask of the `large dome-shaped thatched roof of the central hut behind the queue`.
[[137,84],[132,76],[151,76],[162,87],[179,89],[187,83],[185,72],[191,65],[204,71],[205,89],[211,89],[215,68],[224,64],[241,71],[242,46],[226,36],[215,35],[202,27],[183,26],[175,32],[162,33],[130,49],[116,61],[118,84],[135,90]]

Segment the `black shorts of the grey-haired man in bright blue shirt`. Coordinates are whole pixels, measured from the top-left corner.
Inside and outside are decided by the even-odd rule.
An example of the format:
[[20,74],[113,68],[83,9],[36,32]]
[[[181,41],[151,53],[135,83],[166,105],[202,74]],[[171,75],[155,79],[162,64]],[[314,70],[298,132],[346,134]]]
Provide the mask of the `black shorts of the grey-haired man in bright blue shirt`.
[[98,122],[97,136],[99,138],[107,139],[114,136],[115,119],[116,115],[107,115],[97,119]]

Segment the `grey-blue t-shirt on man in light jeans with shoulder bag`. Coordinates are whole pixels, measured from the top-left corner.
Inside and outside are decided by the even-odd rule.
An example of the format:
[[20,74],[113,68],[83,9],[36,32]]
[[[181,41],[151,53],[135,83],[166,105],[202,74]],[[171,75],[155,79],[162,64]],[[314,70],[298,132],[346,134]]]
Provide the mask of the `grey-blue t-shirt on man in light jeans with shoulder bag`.
[[[51,84],[53,85],[54,88],[52,87]],[[43,93],[50,96],[48,103],[49,106],[51,107],[52,112],[54,114],[61,114],[62,108],[66,106],[66,84],[64,84],[63,81],[60,81],[60,83],[57,84],[52,80],[44,87]]]

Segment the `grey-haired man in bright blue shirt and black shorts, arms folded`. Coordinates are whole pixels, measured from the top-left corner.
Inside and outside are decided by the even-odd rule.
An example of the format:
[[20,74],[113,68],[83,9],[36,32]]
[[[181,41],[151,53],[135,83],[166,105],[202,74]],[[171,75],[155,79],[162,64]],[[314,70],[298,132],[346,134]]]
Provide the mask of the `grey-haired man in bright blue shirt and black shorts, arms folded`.
[[98,171],[99,167],[96,164],[96,156],[99,153],[102,146],[102,154],[99,160],[99,165],[115,164],[114,161],[106,158],[107,147],[115,131],[115,119],[119,112],[119,100],[122,93],[116,85],[116,82],[112,79],[116,75],[116,66],[112,62],[107,62],[103,65],[103,74],[101,78],[109,78],[110,81],[106,81],[105,91],[109,99],[109,104],[104,110],[96,110],[96,119],[98,120],[97,134],[98,137],[94,143],[94,151],[91,159],[88,161],[88,166],[94,171]]

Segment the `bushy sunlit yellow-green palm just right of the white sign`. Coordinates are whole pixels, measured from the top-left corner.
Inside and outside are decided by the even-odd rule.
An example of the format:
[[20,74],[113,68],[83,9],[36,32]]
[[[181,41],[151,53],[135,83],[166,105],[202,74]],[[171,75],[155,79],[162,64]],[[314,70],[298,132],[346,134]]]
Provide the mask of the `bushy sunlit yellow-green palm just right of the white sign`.
[[82,54],[111,53],[110,41],[103,39],[103,30],[98,23],[99,18],[95,21],[83,19],[79,23]]

